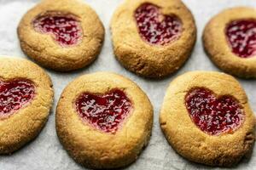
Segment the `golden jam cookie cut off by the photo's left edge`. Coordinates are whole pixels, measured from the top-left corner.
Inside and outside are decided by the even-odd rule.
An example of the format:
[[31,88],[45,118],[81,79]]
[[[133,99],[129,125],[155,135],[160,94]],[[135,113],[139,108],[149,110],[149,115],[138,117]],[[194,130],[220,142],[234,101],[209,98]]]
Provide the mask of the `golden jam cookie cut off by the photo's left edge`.
[[26,59],[0,57],[0,154],[36,138],[53,101],[49,76]]

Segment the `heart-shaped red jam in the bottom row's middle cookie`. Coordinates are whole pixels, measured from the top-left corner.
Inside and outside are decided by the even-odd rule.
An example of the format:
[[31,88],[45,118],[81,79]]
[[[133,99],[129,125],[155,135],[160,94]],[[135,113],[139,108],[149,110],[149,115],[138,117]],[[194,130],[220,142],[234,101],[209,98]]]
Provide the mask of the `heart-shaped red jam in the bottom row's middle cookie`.
[[84,121],[106,133],[115,133],[132,109],[131,100],[119,89],[108,94],[81,94],[75,105]]

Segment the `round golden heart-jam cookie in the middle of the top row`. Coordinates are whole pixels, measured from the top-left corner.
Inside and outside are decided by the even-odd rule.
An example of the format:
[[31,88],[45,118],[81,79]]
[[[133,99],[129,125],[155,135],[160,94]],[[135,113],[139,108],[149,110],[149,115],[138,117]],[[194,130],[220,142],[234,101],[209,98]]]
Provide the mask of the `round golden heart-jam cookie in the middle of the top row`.
[[196,39],[193,15],[180,0],[126,0],[113,14],[111,31],[121,65],[150,78],[177,71]]

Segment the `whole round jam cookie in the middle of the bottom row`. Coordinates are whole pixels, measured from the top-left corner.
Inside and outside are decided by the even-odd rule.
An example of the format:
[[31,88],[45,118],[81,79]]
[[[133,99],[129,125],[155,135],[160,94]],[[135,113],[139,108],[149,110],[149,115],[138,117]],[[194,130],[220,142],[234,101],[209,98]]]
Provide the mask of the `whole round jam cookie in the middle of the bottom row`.
[[58,137],[89,168],[124,167],[148,144],[153,108],[136,83],[97,72],[67,85],[56,108]]

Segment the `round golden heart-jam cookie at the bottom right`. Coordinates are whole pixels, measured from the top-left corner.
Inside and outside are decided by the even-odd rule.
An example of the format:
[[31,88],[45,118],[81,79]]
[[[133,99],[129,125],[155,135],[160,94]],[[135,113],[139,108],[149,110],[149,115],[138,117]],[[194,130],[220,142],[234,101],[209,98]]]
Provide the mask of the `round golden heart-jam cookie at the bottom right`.
[[234,166],[255,139],[255,119],[235,78],[213,71],[177,77],[166,91],[160,127],[181,156],[210,166]]

